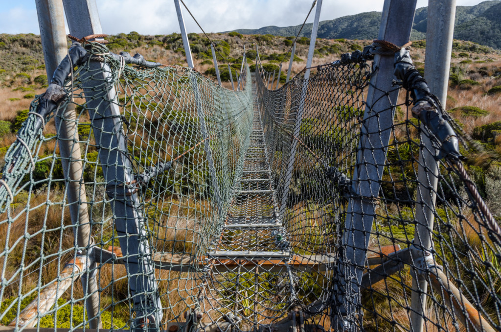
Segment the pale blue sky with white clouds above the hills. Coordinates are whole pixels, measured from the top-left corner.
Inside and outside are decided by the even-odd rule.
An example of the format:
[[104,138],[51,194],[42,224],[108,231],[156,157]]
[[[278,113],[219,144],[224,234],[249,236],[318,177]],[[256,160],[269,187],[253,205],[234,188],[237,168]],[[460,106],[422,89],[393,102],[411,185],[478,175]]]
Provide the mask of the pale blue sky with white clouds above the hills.
[[[179,32],[172,0],[95,0],[103,33],[115,35],[137,31],[142,35]],[[472,6],[482,0],[456,0],[457,6]],[[265,26],[302,24],[313,0],[184,0],[205,32],[257,29]],[[362,12],[381,11],[384,0],[324,0],[320,20]],[[418,0],[417,8],[427,6]],[[188,33],[200,29],[183,10]],[[314,11],[307,22],[313,22]],[[0,33],[40,34],[35,0],[0,0]]]

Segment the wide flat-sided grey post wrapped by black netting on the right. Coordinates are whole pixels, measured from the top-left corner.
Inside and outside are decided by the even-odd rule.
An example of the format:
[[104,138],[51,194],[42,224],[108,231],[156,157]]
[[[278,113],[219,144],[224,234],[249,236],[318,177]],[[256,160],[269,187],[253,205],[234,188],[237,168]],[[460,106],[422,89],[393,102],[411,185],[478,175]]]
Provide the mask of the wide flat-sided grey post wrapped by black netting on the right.
[[[396,45],[409,41],[417,0],[385,0],[378,38]],[[337,301],[331,318],[333,328],[344,328],[345,319],[354,321],[360,303],[360,283],[367,247],[381,188],[387,145],[393,126],[394,105],[398,90],[393,86],[394,57],[376,55],[367,95],[352,192],[345,221],[342,244],[345,256],[340,258]],[[387,92],[389,91],[389,92]],[[335,292],[336,294],[336,292]],[[336,295],[334,295],[336,296]],[[344,317],[346,316],[346,317]],[[352,327],[353,328],[353,327]]]

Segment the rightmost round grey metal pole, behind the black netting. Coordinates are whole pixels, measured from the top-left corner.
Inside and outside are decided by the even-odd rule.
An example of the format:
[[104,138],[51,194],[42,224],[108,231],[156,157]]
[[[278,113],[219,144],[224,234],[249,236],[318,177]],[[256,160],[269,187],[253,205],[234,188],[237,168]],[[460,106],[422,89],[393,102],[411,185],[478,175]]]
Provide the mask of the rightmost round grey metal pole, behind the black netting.
[[[452,52],[452,36],[454,32],[454,19],[456,0],[429,0],[428,23],[426,26],[426,57],[424,61],[424,78],[428,82],[431,93],[436,95],[441,104],[447,101],[447,86],[450,67],[450,54]],[[421,124],[423,127],[423,124]],[[424,128],[422,128],[424,129]],[[432,247],[433,208],[436,200],[438,185],[439,163],[433,154],[437,154],[430,139],[421,135],[418,165],[418,188],[416,205],[417,226],[414,233],[414,251],[421,257],[423,250]],[[424,327],[424,313],[426,312],[426,291],[428,283],[419,280],[413,273],[411,295],[411,326],[414,332],[422,332]]]

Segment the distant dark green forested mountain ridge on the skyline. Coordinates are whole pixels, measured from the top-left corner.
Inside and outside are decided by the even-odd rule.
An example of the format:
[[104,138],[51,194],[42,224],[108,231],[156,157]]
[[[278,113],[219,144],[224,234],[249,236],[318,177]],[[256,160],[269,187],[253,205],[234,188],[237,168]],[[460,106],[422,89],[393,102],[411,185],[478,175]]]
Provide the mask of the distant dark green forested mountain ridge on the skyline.
[[[381,12],[367,12],[321,21],[318,37],[326,39],[374,39],[379,32]],[[427,8],[416,10],[411,40],[426,38]],[[313,24],[306,24],[301,37],[309,37]],[[245,35],[295,36],[298,26],[269,26],[234,30]],[[484,1],[475,6],[457,6],[454,38],[501,49],[501,0]]]

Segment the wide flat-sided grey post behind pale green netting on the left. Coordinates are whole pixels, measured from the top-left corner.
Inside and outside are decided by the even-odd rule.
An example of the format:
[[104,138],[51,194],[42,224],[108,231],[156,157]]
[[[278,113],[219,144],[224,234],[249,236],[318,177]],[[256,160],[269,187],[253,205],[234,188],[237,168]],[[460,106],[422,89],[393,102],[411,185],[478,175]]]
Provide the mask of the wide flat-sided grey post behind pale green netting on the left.
[[[85,37],[102,33],[95,0],[63,0],[66,19],[73,36]],[[114,87],[96,89],[103,82],[110,82],[109,66],[93,61],[90,80],[83,85],[98,156],[106,180],[106,193],[111,198],[115,229],[119,236],[123,256],[126,259],[129,289],[138,319],[149,319],[157,328],[162,321],[162,310],[155,270],[150,252],[148,233],[145,229],[140,201],[134,190],[134,175],[128,157],[126,136],[123,131],[120,108]],[[101,71],[102,74],[96,74]],[[85,74],[84,74],[85,75]],[[113,84],[113,82],[110,82]]]

